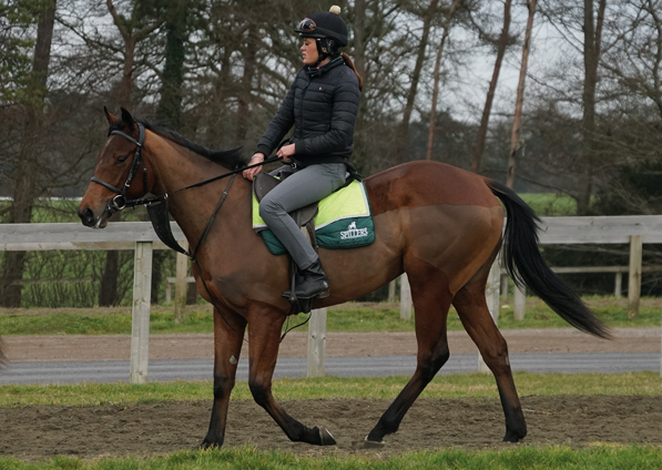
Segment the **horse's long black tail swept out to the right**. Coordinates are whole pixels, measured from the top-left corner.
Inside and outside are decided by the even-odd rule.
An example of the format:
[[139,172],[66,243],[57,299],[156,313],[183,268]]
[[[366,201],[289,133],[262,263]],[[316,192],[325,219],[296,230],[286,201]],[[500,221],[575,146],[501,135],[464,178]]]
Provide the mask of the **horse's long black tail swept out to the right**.
[[515,283],[530,288],[577,329],[609,338],[604,325],[542,259],[537,232],[540,217],[509,187],[489,180],[487,184],[506,207],[503,258]]

